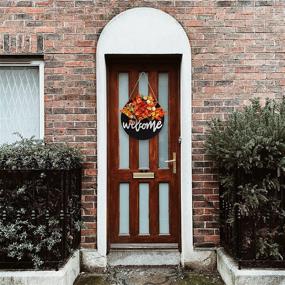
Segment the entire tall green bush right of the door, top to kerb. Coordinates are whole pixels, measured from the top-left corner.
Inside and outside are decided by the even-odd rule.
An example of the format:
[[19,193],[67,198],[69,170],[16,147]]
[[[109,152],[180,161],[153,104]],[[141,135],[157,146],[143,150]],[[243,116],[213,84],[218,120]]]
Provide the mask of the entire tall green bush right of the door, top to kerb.
[[244,222],[243,250],[255,246],[252,258],[283,259],[285,99],[265,106],[254,99],[227,121],[212,120],[206,148],[218,166],[223,198],[233,201],[225,223],[233,226],[236,210]]

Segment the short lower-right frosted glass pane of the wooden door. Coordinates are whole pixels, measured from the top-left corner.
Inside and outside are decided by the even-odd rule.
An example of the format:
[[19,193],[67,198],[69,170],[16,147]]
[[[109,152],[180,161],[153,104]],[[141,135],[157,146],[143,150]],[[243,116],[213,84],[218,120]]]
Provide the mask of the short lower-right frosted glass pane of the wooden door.
[[159,184],[159,233],[169,234],[169,184]]

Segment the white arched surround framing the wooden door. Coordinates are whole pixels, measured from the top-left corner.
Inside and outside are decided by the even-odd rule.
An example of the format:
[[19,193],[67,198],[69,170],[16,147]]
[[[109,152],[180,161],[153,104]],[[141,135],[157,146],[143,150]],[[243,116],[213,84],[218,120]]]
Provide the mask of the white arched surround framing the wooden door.
[[113,18],[97,45],[97,248],[107,254],[107,90],[106,54],[181,54],[181,261],[193,253],[191,162],[191,48],[182,26],[153,8],[133,8]]

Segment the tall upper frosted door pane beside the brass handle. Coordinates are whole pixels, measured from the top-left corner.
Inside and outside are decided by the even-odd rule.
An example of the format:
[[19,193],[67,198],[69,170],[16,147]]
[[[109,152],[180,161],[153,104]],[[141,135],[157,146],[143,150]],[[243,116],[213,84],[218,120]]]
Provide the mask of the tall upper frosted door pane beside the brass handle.
[[168,73],[158,76],[158,98],[160,106],[166,111],[164,126],[159,133],[159,168],[168,168]]

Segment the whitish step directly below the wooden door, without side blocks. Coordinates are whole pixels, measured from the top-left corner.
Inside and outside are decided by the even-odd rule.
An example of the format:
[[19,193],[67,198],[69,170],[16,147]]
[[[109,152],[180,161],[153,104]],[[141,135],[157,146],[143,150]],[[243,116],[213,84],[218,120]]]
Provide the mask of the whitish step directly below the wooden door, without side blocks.
[[176,266],[181,256],[178,249],[112,249],[107,256],[110,266]]

